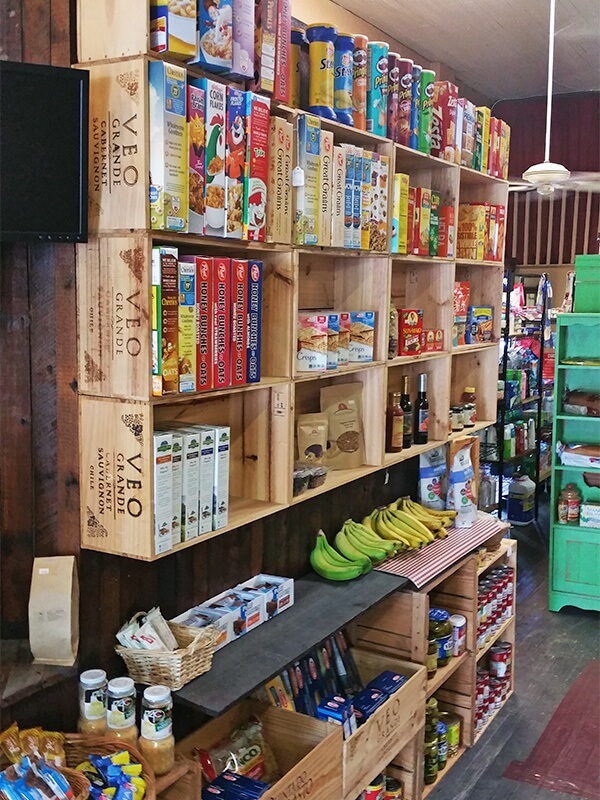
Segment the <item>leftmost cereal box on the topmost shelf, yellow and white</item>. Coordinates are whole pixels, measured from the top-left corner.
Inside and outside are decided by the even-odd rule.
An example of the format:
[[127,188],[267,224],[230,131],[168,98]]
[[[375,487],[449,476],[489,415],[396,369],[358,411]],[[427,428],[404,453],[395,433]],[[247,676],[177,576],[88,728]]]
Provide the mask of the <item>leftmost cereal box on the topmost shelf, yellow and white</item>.
[[150,49],[179,61],[196,57],[196,0],[150,0]]

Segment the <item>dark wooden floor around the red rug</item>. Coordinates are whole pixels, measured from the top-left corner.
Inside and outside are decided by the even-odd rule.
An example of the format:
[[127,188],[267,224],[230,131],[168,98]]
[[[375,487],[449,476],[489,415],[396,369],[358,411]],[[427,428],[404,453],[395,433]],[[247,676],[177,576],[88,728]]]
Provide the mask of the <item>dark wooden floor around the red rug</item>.
[[573,800],[571,794],[502,777],[511,761],[527,758],[579,673],[599,657],[595,612],[548,611],[547,504],[540,523],[541,533],[533,526],[511,532],[519,541],[516,691],[430,800]]

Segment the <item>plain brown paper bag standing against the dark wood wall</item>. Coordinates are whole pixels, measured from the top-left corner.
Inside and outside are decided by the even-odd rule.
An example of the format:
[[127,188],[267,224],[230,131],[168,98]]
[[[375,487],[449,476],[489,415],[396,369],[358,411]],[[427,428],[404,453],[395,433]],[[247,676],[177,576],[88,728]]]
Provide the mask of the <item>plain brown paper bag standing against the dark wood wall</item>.
[[36,558],[29,594],[29,646],[36,664],[71,667],[79,647],[75,556]]

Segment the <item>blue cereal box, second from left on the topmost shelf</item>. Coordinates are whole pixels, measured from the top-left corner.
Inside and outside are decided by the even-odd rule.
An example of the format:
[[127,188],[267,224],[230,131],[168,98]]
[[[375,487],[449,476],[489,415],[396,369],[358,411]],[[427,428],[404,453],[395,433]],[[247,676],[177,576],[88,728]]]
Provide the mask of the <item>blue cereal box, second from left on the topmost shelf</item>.
[[231,72],[233,66],[232,0],[202,0],[198,9],[198,54],[207,72]]

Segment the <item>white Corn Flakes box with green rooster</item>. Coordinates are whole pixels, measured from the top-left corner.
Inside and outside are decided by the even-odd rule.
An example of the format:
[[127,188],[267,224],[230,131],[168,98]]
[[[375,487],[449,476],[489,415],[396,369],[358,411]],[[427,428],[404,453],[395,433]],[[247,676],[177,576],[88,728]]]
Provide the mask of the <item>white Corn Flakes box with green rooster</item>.
[[204,232],[225,236],[225,86],[209,78],[200,81],[204,89]]

